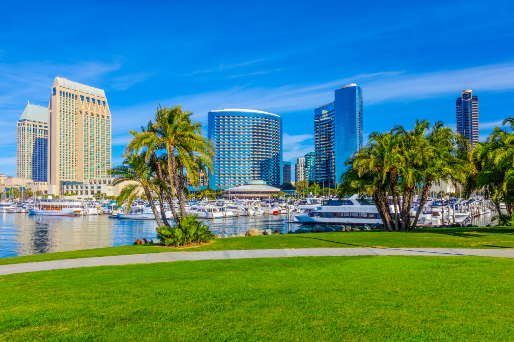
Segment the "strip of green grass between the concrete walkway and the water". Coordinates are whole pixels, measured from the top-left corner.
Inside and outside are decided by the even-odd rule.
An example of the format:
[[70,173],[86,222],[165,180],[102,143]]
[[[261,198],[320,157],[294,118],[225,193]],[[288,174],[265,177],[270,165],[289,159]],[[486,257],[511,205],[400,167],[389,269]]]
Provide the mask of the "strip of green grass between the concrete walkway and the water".
[[514,248],[514,228],[437,228],[418,230],[414,233],[356,231],[232,237],[216,239],[212,244],[188,249],[135,245],[2,258],[0,259],[0,265],[174,251],[323,247]]

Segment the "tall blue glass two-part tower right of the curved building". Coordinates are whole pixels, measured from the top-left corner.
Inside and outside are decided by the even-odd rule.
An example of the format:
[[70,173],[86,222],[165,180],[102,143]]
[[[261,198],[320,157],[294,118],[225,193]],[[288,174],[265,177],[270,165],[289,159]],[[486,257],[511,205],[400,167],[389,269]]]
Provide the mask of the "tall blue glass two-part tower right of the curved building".
[[314,110],[315,180],[335,187],[346,160],[363,143],[362,89],[348,84],[334,92],[334,102]]

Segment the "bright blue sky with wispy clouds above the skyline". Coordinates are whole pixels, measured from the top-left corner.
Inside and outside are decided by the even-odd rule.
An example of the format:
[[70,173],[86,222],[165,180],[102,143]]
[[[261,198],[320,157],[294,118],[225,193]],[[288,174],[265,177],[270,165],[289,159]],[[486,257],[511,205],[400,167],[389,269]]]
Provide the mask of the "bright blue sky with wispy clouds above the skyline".
[[[455,127],[479,96],[480,136],[514,116],[514,5],[496,2],[8,2],[0,28],[0,173],[16,173],[16,120],[55,76],[102,88],[113,165],[157,103],[206,124],[212,109],[283,117],[284,160],[314,150],[314,108],[357,83],[364,133],[415,119]],[[510,106],[509,106],[510,105]]]

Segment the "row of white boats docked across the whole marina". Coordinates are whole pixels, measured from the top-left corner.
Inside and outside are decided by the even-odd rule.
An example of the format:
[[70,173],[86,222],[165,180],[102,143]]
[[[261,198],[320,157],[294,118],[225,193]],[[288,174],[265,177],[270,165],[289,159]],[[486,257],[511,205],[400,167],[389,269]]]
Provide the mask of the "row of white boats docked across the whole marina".
[[[179,212],[178,203],[172,204]],[[168,219],[173,218],[170,204],[156,203],[156,210],[163,208]],[[394,207],[390,205],[391,213]],[[418,225],[440,226],[451,223],[465,224],[472,217],[491,213],[492,203],[485,199],[433,199],[423,208],[414,201],[411,216],[421,210]],[[36,202],[13,204],[0,202],[0,213],[28,212],[30,215],[75,216],[109,214],[111,218],[152,220],[155,215],[148,202],[136,201],[130,208],[109,203],[89,202],[74,198],[46,198]],[[198,218],[223,218],[232,216],[257,216],[287,214],[289,223],[322,225],[381,225],[382,220],[371,198],[357,195],[339,198],[305,198],[301,200],[238,199],[191,201],[186,205],[187,214]]]

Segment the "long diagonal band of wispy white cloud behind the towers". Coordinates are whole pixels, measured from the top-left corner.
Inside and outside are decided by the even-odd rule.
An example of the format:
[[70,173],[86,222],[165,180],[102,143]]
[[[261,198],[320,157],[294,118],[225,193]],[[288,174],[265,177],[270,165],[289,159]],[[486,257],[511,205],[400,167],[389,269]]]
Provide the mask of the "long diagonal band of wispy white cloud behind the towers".
[[458,95],[463,89],[473,89],[474,92],[508,91],[514,90],[514,63],[427,73],[408,73],[402,70],[360,73],[319,84],[289,84],[280,87],[245,85],[120,107],[113,111],[113,118],[116,115],[123,116],[123,122],[118,127],[120,130],[138,127],[144,119],[153,116],[158,101],[163,105],[182,104],[183,108],[193,110],[195,117],[203,122],[208,111],[222,108],[251,108],[277,114],[310,111],[333,101],[334,90],[348,83],[361,86],[364,106]]

